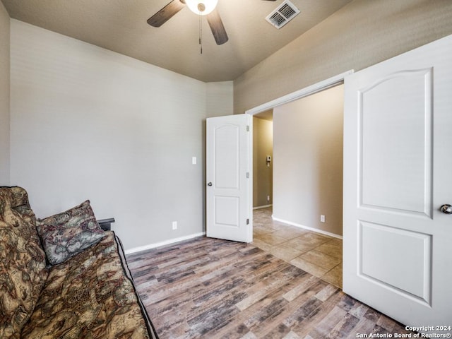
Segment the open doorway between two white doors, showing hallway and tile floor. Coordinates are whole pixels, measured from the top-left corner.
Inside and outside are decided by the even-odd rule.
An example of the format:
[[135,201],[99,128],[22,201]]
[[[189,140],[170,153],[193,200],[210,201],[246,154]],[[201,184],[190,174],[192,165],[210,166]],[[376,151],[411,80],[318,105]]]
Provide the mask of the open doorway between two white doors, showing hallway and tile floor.
[[[342,287],[343,85],[262,114],[253,127],[254,244]],[[261,125],[271,126],[273,147]],[[262,165],[273,169],[271,194]]]

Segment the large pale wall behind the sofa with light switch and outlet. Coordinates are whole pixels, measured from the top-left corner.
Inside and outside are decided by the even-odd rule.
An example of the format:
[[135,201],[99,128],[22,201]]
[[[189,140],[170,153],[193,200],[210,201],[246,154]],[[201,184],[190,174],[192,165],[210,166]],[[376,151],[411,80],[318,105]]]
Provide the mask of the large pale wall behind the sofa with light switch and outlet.
[[[212,86],[210,102],[232,114],[232,83]],[[89,198],[97,218],[116,219],[126,249],[203,232],[208,92],[11,20],[11,184],[28,190],[40,218]]]

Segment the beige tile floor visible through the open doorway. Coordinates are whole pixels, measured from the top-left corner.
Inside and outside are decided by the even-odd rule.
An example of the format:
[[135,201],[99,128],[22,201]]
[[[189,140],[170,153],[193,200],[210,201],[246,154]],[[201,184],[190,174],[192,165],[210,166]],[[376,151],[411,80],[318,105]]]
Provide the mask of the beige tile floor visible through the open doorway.
[[342,240],[273,221],[272,208],[254,210],[253,244],[342,288]]

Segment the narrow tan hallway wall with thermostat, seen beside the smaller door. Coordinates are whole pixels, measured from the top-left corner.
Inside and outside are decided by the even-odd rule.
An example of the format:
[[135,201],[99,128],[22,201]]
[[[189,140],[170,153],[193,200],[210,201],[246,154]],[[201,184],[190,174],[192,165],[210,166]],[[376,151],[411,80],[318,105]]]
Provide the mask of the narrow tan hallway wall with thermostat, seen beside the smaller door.
[[[272,161],[267,166],[266,157]],[[267,200],[270,196],[270,200]],[[253,207],[273,203],[273,123],[253,118]]]

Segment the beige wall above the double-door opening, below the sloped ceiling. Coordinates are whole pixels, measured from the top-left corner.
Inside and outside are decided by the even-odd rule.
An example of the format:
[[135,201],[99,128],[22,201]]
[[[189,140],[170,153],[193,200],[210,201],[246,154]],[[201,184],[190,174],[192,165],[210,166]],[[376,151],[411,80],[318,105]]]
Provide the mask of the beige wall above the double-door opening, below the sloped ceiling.
[[239,76],[234,113],[451,34],[451,0],[352,1]]

